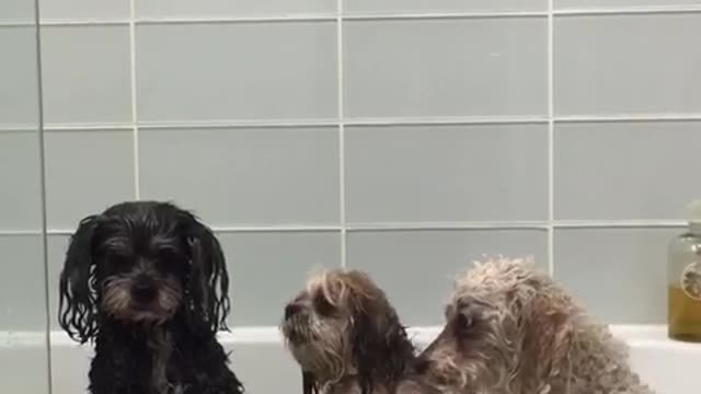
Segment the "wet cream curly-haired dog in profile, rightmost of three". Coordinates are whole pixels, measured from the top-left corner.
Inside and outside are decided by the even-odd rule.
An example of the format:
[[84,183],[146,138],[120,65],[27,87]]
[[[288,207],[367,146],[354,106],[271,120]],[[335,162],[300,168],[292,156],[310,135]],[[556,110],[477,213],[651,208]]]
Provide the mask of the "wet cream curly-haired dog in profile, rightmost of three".
[[624,344],[531,260],[478,263],[457,278],[446,315],[422,357],[456,393],[653,393]]

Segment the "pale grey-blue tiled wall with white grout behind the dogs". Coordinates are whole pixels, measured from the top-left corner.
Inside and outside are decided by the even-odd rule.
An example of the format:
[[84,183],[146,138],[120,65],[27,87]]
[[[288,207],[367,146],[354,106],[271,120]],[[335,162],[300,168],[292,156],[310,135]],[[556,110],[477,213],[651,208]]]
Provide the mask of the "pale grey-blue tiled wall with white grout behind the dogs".
[[32,4],[0,5],[0,331],[46,324],[44,230],[57,329],[68,235],[133,198],[217,230],[234,326],[341,265],[440,324],[483,253],[664,322],[665,245],[701,196],[701,0],[39,5],[43,123]]

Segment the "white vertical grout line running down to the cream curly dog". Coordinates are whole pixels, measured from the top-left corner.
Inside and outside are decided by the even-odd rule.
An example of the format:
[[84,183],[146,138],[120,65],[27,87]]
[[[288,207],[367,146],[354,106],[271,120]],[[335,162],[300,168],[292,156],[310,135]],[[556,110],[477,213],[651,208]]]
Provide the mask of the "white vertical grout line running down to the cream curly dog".
[[554,176],[554,25],[553,0],[548,0],[548,274],[555,276],[555,176]]

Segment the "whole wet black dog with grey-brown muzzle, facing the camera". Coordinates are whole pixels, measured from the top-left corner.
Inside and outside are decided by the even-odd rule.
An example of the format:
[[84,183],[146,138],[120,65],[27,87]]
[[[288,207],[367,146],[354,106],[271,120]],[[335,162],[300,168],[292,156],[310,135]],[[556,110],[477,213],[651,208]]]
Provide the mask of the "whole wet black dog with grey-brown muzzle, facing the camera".
[[229,277],[219,242],[168,202],[115,205],[80,222],[60,277],[59,322],[95,343],[93,394],[240,394],[216,339]]

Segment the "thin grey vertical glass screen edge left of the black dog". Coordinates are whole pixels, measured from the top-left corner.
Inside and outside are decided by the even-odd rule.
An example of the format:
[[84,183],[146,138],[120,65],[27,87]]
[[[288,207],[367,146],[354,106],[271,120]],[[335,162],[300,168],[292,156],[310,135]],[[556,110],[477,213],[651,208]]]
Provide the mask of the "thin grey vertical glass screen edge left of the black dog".
[[44,78],[42,76],[42,25],[39,14],[39,0],[34,0],[34,32],[36,38],[36,93],[37,93],[37,121],[38,121],[38,149],[39,149],[39,194],[41,194],[41,217],[42,217],[42,258],[44,268],[44,336],[46,346],[46,378],[48,393],[54,392],[54,364],[51,344],[51,298],[49,294],[49,267],[48,267],[48,219],[46,208],[46,143],[44,141]]

